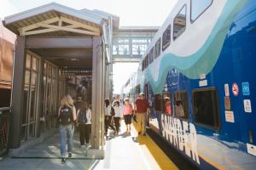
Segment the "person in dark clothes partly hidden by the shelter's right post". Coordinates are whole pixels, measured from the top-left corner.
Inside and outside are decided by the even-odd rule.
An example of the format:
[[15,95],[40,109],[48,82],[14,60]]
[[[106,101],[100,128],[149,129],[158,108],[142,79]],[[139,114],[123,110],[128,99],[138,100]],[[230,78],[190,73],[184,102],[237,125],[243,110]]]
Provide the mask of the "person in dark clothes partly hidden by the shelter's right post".
[[108,127],[111,127],[113,130],[115,130],[114,127],[110,125],[112,116],[114,114],[113,114],[113,108],[110,105],[109,99],[105,99],[104,115],[105,115],[105,119],[104,119],[105,133],[104,134],[107,135]]

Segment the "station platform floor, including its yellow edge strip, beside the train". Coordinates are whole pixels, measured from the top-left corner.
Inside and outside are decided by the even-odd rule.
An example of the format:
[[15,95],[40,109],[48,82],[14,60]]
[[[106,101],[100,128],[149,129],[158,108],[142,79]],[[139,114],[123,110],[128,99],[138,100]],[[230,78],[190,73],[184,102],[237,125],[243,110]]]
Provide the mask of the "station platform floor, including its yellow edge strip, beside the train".
[[75,133],[73,157],[68,158],[66,163],[61,165],[59,140],[59,134],[55,133],[44,143],[36,144],[18,156],[9,156],[0,161],[0,167],[5,170],[178,169],[148,135],[137,135],[136,124],[131,127],[130,134],[125,133],[124,122],[122,122],[119,135],[108,133],[105,157],[102,160],[86,156],[84,150],[80,148],[79,133]]

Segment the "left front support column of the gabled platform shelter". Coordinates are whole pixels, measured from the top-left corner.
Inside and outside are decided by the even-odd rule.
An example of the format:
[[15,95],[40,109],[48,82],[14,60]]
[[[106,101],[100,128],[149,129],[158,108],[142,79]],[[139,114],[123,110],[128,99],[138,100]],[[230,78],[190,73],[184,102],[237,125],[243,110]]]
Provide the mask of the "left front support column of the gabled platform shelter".
[[23,97],[24,97],[24,71],[26,64],[25,37],[18,37],[16,41],[15,65],[12,93],[12,114],[10,124],[10,148],[20,147],[20,127],[23,115]]

